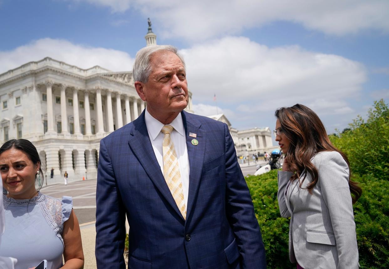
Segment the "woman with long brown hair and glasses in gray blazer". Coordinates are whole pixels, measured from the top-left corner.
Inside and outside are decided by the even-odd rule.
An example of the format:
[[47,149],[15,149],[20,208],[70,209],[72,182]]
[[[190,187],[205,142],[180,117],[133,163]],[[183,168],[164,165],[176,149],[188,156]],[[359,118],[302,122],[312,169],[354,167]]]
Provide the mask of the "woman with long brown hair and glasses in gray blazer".
[[301,104],[275,111],[275,140],[286,158],[278,172],[278,203],[290,217],[289,259],[297,268],[358,268],[352,204],[362,190],[350,164],[329,141],[311,109]]

